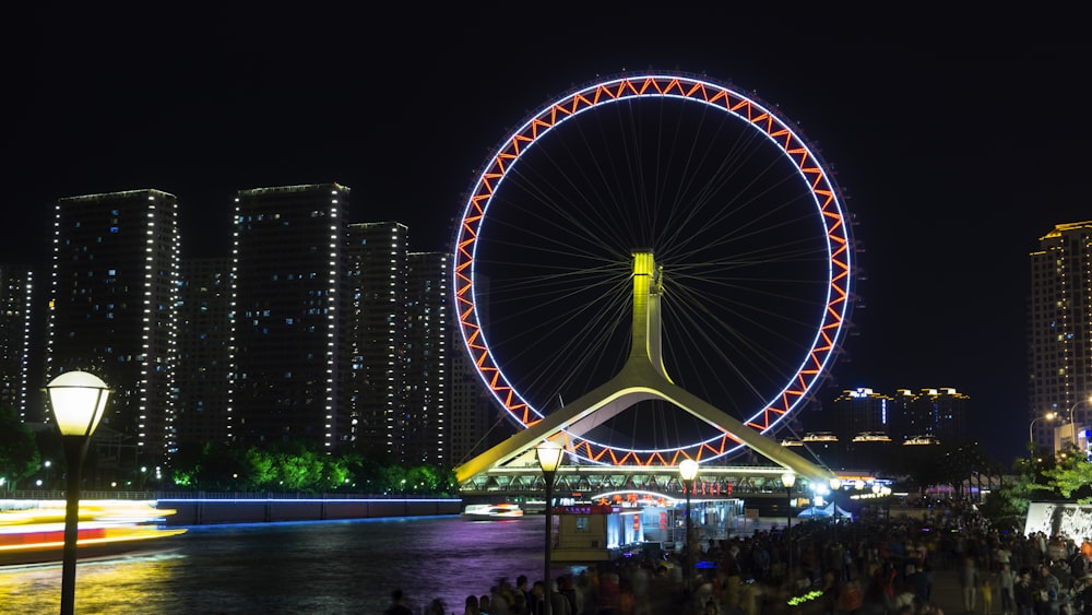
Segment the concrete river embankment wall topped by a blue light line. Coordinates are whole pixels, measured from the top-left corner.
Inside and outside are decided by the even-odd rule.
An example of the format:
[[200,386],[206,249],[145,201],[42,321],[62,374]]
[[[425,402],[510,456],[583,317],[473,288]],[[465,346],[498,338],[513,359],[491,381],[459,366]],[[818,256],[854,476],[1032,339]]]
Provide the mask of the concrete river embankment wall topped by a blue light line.
[[167,525],[213,523],[270,523],[276,521],[325,521],[459,515],[458,498],[163,498],[157,508],[174,510]]

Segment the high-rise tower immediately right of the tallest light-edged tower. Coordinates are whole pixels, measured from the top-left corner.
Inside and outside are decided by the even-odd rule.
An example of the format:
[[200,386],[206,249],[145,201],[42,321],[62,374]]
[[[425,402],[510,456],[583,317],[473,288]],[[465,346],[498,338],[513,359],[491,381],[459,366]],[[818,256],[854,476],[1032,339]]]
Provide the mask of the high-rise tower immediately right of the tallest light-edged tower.
[[397,222],[370,222],[351,224],[347,236],[353,442],[361,451],[401,459],[408,230]]

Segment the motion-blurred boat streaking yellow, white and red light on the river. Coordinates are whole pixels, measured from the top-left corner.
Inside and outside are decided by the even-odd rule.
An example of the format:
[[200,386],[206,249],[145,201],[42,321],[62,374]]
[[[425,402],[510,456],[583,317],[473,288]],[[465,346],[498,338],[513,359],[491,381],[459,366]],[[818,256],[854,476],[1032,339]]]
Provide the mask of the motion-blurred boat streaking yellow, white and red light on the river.
[[[64,502],[57,500],[4,502],[0,511],[0,566],[58,563],[64,552]],[[76,558],[90,559],[154,551],[161,539],[186,532],[163,528],[174,510],[154,501],[98,500],[81,502]]]

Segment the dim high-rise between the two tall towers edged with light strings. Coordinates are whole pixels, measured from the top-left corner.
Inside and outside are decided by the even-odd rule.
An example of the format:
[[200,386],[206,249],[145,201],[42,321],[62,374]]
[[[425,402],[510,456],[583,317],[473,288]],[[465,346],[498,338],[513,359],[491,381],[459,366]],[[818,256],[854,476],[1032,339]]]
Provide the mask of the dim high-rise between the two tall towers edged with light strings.
[[230,440],[232,259],[182,259],[178,306],[180,448]]

